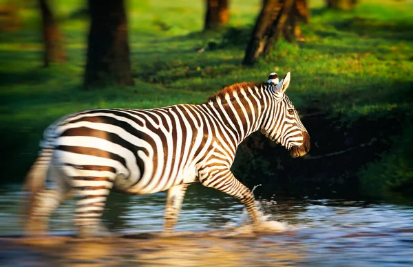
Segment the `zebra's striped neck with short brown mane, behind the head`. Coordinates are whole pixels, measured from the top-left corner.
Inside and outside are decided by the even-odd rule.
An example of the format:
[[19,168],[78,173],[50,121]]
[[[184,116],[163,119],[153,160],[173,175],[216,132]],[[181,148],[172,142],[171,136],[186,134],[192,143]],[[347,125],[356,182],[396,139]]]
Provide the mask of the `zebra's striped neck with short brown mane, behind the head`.
[[210,97],[204,106],[231,132],[238,145],[252,132],[260,130],[268,117],[268,106],[273,105],[273,98],[265,89],[266,84],[235,85],[235,89],[223,89]]

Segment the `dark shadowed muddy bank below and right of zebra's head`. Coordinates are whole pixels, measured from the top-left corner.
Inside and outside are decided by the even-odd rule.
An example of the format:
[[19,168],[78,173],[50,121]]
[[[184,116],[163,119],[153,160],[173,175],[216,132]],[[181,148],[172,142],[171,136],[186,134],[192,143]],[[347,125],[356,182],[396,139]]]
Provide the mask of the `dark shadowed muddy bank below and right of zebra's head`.
[[233,172],[248,187],[265,197],[316,196],[357,198],[357,172],[366,163],[392,148],[401,135],[404,116],[360,117],[346,121],[319,111],[307,112],[301,119],[310,133],[311,150],[292,159],[285,148],[255,132],[240,145]]

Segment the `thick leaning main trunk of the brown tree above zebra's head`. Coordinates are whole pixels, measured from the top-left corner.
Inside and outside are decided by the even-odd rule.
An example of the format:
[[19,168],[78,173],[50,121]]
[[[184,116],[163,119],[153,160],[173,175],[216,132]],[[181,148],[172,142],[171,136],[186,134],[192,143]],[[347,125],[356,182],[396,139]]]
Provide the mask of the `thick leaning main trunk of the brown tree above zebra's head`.
[[[255,22],[253,34],[246,47],[243,65],[253,65],[262,55],[268,54],[279,39],[290,16],[295,0],[264,0],[262,10]],[[288,25],[295,25],[293,16]]]

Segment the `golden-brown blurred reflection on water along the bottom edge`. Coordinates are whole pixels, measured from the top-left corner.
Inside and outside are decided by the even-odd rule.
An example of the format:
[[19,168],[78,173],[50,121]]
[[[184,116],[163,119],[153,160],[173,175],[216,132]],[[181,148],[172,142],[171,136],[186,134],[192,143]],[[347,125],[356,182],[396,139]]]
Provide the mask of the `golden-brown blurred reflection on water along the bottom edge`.
[[[61,242],[37,244],[24,262],[58,266],[293,266],[304,261],[297,246],[265,238],[225,240],[218,237],[174,237],[152,240]],[[11,262],[11,261],[10,261]],[[14,259],[13,264],[20,264]],[[6,262],[6,265],[9,262]],[[11,265],[10,265],[11,266]]]

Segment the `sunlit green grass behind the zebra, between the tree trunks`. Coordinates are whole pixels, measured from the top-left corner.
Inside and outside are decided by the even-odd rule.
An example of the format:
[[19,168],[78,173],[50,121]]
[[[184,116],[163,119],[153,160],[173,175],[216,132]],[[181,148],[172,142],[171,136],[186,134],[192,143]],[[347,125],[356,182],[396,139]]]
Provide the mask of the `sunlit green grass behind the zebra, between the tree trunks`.
[[282,40],[255,67],[242,67],[261,2],[231,1],[229,26],[202,32],[202,1],[129,1],[136,86],[98,91],[81,88],[89,27],[84,1],[54,6],[68,61],[49,69],[41,68],[39,12],[26,3],[20,12],[23,28],[0,33],[0,140],[8,159],[2,161],[3,181],[21,181],[43,129],[61,115],[85,108],[200,103],[224,85],[263,81],[271,71],[291,71],[288,95],[302,111],[318,108],[344,120],[412,111],[412,1],[369,1],[352,12],[311,2],[306,40]]

